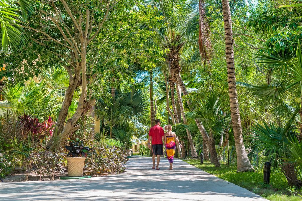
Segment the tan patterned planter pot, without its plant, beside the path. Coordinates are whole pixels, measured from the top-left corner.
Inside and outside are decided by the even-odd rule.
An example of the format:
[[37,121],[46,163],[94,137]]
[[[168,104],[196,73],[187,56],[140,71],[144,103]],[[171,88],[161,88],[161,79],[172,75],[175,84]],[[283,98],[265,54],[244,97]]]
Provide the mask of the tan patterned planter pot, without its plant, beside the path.
[[83,168],[86,157],[66,156],[68,176],[81,177],[83,176]]

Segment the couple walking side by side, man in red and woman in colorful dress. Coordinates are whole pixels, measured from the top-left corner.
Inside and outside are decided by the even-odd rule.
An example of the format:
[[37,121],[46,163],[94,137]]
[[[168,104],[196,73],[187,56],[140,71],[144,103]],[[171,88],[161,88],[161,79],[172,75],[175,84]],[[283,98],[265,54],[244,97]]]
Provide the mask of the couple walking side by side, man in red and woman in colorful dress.
[[[164,129],[166,132],[164,132]],[[155,120],[155,125],[150,128],[149,130],[149,138],[148,138],[148,148],[150,149],[150,142],[152,142],[152,161],[153,161],[153,167],[152,169],[155,169],[155,156],[157,157],[156,160],[156,169],[160,170],[159,161],[160,156],[164,155],[163,153],[163,146],[166,148],[166,156],[168,158],[168,161],[170,163],[169,170],[173,169],[173,160],[174,160],[174,153],[175,153],[175,141],[178,142],[180,147],[182,145],[179,143],[178,138],[175,134],[175,132],[172,132],[172,126],[171,125],[165,125],[164,129],[160,126],[160,120]]]

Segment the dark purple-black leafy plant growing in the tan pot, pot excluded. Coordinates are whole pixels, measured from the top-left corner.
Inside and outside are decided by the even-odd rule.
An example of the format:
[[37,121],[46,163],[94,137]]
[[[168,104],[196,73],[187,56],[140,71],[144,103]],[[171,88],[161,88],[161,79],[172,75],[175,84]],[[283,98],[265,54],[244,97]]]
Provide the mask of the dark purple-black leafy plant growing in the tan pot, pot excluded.
[[64,146],[69,153],[67,156],[82,156],[86,157],[90,147],[84,147],[83,141],[76,140],[69,140],[69,146]]

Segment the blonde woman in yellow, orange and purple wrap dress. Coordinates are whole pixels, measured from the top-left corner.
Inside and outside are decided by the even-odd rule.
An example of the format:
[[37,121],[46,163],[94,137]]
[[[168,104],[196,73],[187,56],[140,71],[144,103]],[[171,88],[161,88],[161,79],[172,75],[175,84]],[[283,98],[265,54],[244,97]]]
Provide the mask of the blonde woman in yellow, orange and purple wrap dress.
[[164,145],[166,147],[166,156],[168,158],[168,161],[170,163],[170,168],[169,170],[173,169],[173,160],[174,160],[174,154],[175,154],[175,141],[178,142],[178,144],[180,145],[180,147],[182,147],[182,145],[179,143],[178,138],[175,134],[175,132],[172,132],[172,126],[171,125],[165,125],[164,130],[167,131],[165,132],[164,138],[165,138],[165,142]]

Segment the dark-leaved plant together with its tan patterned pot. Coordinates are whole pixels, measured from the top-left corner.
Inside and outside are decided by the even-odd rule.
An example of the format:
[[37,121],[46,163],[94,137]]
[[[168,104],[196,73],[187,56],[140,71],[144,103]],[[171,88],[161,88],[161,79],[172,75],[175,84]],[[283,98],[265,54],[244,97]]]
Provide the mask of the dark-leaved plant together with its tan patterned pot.
[[64,147],[69,151],[66,156],[68,176],[83,176],[84,162],[90,147],[84,147],[83,141],[79,141],[78,139],[76,141],[70,140],[69,146]]

